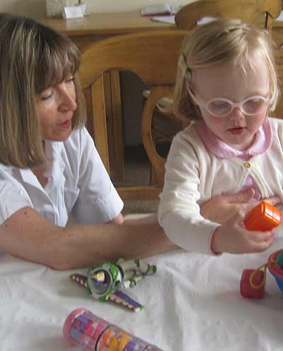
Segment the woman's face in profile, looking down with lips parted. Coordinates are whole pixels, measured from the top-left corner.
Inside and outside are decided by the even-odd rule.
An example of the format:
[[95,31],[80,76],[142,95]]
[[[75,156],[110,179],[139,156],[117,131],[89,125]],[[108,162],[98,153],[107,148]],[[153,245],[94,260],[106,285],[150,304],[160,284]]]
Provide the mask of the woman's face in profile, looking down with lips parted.
[[72,74],[54,87],[42,91],[35,107],[42,128],[42,140],[66,140],[71,134],[71,119],[76,108]]

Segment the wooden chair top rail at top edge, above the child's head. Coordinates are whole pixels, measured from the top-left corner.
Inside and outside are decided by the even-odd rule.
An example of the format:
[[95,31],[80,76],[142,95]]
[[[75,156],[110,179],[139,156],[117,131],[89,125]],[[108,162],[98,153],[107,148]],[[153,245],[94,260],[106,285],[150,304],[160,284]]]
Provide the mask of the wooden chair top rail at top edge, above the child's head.
[[241,18],[271,28],[282,9],[281,0],[200,0],[184,6],[175,16],[178,28],[190,30],[203,17]]

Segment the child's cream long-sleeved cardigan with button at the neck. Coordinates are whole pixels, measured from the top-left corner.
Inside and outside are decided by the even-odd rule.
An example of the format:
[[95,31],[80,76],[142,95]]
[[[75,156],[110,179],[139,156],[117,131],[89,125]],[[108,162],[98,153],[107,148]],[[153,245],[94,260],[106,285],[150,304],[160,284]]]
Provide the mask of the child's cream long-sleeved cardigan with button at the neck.
[[[270,118],[270,125],[272,145],[249,162],[236,157],[219,159],[207,151],[195,123],[175,136],[158,208],[158,221],[173,243],[211,255],[209,239],[219,224],[204,219],[200,205],[216,195],[237,193],[249,174],[262,198],[277,195],[283,201],[283,121]],[[281,225],[277,233],[282,231]]]

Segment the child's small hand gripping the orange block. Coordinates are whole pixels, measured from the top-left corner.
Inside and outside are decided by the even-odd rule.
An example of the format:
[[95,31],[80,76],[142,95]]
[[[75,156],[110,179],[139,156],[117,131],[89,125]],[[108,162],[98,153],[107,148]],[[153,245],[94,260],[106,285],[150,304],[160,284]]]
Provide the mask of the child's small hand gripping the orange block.
[[233,254],[262,252],[272,244],[274,230],[260,232],[247,230],[243,225],[245,214],[240,211],[214,232],[212,250]]

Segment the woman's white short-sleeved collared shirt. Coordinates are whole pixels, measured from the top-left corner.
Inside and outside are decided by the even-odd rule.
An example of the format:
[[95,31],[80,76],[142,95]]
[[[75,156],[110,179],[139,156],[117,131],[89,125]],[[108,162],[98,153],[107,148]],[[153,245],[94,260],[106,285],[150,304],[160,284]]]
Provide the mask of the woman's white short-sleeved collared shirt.
[[78,223],[104,223],[122,211],[122,200],[86,128],[64,143],[46,141],[45,154],[50,163],[44,188],[30,169],[0,164],[0,224],[25,206],[62,227],[70,215]]

